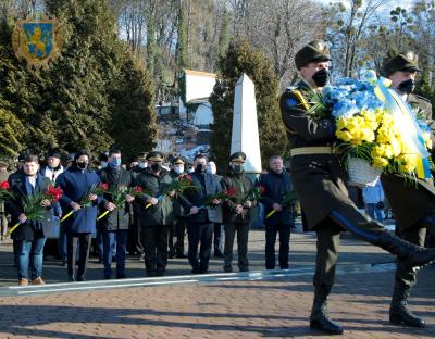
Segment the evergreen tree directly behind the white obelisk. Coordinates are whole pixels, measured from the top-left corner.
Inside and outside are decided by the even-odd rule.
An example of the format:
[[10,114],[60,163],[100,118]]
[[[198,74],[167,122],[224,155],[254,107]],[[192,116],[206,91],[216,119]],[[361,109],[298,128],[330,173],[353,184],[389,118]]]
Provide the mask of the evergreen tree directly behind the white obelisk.
[[256,85],[257,114],[263,166],[270,156],[283,154],[287,143],[278,108],[278,79],[271,63],[247,41],[233,41],[219,60],[219,80],[210,97],[214,124],[211,150],[217,168],[226,168],[231,150],[234,87],[246,73]]

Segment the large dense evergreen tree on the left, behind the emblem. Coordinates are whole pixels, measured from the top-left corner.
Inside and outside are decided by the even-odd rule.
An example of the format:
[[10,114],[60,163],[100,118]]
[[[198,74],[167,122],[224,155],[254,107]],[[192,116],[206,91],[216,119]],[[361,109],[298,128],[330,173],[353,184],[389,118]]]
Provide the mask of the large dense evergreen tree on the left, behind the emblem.
[[[15,130],[10,141],[13,147],[3,142],[5,137],[0,140],[0,149],[11,155],[18,149],[46,155],[52,148],[64,152],[88,148],[97,153],[119,145],[132,149],[126,151],[130,154],[151,147],[152,83],[119,39],[105,1],[47,0],[46,4],[60,21],[63,38],[61,55],[49,70],[35,72],[16,60],[12,25],[5,17],[1,21],[0,109],[7,118],[0,120],[0,130],[20,128],[20,133]],[[11,113],[15,120],[7,115]],[[127,121],[132,124],[125,129],[122,123]],[[134,140],[126,142],[127,136]]]

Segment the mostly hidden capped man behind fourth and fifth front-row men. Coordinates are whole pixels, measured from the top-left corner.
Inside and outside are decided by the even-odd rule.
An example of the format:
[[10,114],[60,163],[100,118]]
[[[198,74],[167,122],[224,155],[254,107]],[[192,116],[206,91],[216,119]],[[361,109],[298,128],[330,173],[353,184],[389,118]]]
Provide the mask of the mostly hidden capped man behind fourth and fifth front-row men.
[[[172,163],[172,170],[170,172],[174,180],[178,179],[179,176],[184,176],[185,173],[185,161],[182,156],[176,156]],[[186,258],[184,254],[184,235],[186,233],[186,213],[179,199],[174,199],[174,227],[170,230],[169,248],[170,258]],[[174,235],[176,241],[174,243]]]

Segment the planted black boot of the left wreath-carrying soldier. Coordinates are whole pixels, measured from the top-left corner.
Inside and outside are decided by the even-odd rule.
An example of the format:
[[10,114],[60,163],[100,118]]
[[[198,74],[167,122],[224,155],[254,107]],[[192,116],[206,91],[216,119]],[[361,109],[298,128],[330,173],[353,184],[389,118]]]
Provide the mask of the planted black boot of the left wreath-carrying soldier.
[[327,296],[331,288],[315,287],[314,302],[310,316],[310,328],[328,335],[343,335],[343,327],[335,324],[327,316]]

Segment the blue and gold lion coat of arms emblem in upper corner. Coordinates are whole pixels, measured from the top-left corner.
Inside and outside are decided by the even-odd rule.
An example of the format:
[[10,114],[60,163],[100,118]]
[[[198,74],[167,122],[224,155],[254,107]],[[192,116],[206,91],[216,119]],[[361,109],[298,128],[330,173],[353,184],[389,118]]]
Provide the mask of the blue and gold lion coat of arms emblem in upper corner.
[[59,56],[61,49],[58,20],[18,20],[12,33],[12,47],[18,60],[27,61],[28,68],[48,68],[50,61]]

